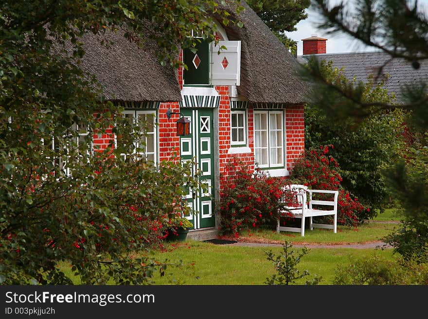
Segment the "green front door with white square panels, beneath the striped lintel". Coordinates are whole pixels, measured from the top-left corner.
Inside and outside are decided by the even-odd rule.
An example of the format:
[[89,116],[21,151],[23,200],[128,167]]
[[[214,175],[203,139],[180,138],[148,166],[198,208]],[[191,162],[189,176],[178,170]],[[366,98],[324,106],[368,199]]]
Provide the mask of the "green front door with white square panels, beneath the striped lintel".
[[180,137],[180,159],[197,163],[201,171],[201,183],[206,189],[187,196],[188,205],[196,212],[189,218],[195,229],[215,226],[214,218],[214,125],[213,109],[182,108],[180,112],[190,119],[190,135]]

